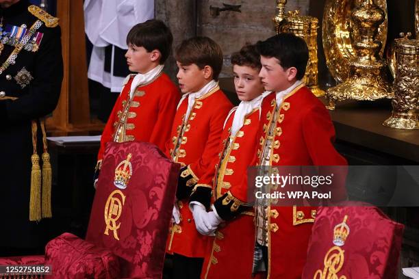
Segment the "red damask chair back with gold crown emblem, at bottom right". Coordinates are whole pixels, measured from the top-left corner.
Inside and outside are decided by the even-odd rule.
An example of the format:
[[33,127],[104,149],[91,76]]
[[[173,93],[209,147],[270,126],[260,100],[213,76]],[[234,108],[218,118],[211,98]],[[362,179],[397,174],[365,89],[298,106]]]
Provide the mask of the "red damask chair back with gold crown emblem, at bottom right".
[[[329,278],[330,270],[324,270],[325,263],[328,265],[325,256],[331,248],[338,247],[333,243],[333,232],[335,226],[344,221],[345,215],[348,216],[349,234],[344,245],[340,246],[344,251],[343,257],[335,258],[336,278],[397,278],[404,226],[390,220],[376,207],[365,206],[322,207],[318,210],[303,278],[323,278],[320,275]],[[330,256],[327,258],[331,259]],[[342,267],[339,267],[340,264]],[[314,276],[316,272],[318,274]]]

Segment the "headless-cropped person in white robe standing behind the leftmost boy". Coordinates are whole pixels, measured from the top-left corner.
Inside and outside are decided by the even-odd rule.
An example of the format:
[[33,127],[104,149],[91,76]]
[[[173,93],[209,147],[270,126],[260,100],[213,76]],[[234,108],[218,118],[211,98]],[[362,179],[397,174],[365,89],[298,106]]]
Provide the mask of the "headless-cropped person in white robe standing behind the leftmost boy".
[[130,70],[125,64],[126,38],[131,27],[154,18],[153,0],[86,0],[84,23],[88,46],[90,94],[99,94],[97,114],[107,122],[122,83]]

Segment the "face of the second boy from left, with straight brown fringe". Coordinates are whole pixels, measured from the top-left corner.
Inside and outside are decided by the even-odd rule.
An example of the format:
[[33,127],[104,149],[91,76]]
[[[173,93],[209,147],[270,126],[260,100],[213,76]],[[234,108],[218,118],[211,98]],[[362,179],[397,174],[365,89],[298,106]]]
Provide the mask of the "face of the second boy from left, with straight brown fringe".
[[176,64],[179,68],[176,77],[182,93],[198,92],[211,80],[212,72],[208,75],[207,68],[200,69],[196,64],[183,65],[178,61]]

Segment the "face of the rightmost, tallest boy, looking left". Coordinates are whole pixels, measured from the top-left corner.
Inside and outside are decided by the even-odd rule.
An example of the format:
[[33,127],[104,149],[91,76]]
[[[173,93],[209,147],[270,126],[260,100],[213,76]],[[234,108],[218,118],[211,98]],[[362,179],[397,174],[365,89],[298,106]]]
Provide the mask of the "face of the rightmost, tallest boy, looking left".
[[261,55],[260,62],[262,69],[259,72],[259,77],[262,79],[265,90],[279,92],[294,84],[296,68],[291,67],[284,70],[275,57]]

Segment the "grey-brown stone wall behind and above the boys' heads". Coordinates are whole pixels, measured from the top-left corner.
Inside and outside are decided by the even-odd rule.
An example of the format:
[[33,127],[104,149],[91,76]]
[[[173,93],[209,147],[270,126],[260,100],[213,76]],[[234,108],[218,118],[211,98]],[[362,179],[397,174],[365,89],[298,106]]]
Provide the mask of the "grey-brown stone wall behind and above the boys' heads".
[[[211,16],[210,6],[223,8],[223,3],[241,5],[240,12],[220,12]],[[155,16],[170,25],[174,47],[190,36],[208,36],[218,42],[224,53],[225,66],[220,77],[231,76],[230,55],[246,42],[255,43],[275,35],[272,17],[276,0],[155,0]],[[309,0],[288,0],[285,10],[307,14]],[[170,59],[166,72],[175,77],[176,64]]]

